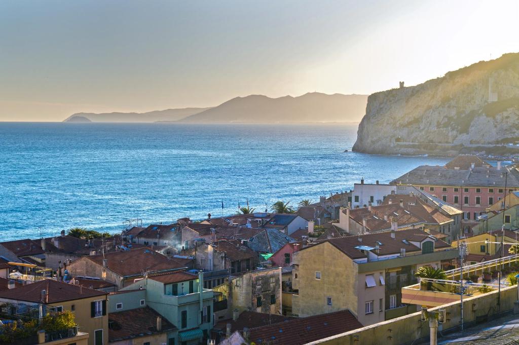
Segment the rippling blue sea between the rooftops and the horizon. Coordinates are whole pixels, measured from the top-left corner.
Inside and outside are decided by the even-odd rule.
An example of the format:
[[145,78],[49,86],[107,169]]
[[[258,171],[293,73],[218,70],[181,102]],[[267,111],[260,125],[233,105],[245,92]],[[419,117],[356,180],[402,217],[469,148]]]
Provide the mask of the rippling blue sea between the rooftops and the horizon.
[[[0,123],[0,241],[258,211],[387,183],[432,157],[347,152],[357,125]],[[222,211],[222,201],[224,209]]]

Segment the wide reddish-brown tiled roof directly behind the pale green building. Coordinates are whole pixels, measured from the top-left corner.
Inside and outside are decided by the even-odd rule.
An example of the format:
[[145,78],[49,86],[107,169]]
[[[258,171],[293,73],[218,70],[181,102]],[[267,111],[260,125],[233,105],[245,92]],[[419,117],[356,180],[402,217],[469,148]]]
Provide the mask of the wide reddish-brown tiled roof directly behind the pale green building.
[[[157,253],[148,247],[132,249],[131,251],[112,252],[105,254],[108,260],[106,267],[111,271],[126,277],[133,274],[141,274],[144,271],[158,271],[165,269],[177,269],[186,267],[191,260],[171,258]],[[98,265],[103,265],[103,255],[86,256]]]

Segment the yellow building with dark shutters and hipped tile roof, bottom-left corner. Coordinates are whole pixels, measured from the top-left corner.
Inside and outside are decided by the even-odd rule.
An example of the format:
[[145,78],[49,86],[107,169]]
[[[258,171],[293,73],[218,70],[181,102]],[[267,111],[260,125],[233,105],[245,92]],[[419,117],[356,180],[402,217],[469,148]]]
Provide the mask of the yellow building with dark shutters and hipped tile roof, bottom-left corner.
[[[46,279],[0,291],[0,304],[10,303],[15,312],[29,309],[45,314],[48,310],[70,310],[81,332],[88,333],[88,345],[108,343],[108,293]],[[69,342],[70,343],[70,342]]]

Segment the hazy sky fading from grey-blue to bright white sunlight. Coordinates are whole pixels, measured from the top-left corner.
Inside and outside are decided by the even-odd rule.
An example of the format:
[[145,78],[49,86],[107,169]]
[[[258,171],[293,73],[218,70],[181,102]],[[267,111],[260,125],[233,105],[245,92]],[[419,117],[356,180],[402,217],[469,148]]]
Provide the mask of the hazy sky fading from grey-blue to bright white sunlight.
[[373,93],[519,51],[513,1],[0,1],[0,121]]

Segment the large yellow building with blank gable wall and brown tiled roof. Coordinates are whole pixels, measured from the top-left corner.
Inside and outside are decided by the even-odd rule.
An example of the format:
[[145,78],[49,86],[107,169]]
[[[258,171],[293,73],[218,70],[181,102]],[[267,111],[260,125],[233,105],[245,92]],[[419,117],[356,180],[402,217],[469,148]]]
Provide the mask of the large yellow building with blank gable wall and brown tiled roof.
[[415,312],[401,288],[421,266],[442,267],[457,250],[424,230],[384,231],[329,239],[294,254],[292,313],[349,309],[363,325]]

